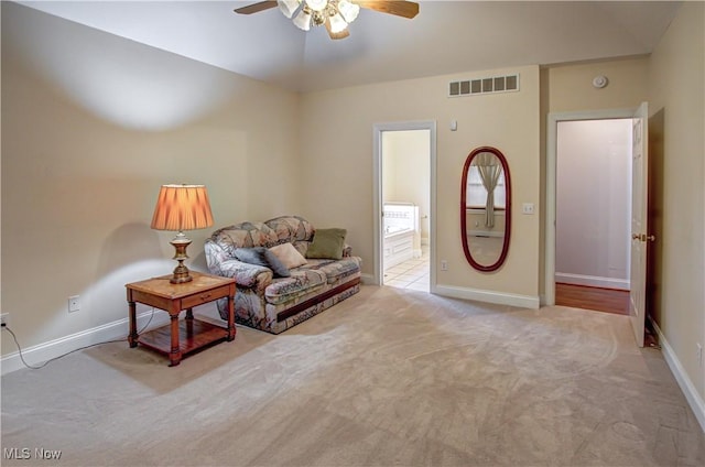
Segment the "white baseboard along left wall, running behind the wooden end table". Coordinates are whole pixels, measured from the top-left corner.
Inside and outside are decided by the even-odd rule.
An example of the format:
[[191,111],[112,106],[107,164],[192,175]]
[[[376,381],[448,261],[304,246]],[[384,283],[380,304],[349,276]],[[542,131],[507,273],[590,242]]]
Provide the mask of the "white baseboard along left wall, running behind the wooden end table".
[[[138,329],[141,329],[147,323],[149,323],[150,316],[152,316],[152,311],[141,313],[137,317]],[[145,330],[164,326],[169,324],[169,314],[162,312],[161,309],[154,309],[152,322],[150,323],[149,328]],[[91,329],[82,330],[80,333],[50,340],[48,343],[24,348],[22,349],[22,356],[28,363],[36,366],[82,347],[100,344],[108,340],[124,338],[124,345],[127,346],[128,329],[129,319],[124,317],[122,319],[104,324]],[[3,339],[12,340],[12,336],[10,335],[10,333],[7,333],[4,330],[2,333],[4,334],[2,336]],[[22,344],[21,336],[18,336],[18,340],[20,340],[20,344]],[[0,360],[0,373],[7,374],[12,371],[21,370],[25,367],[20,359],[20,352],[14,351],[2,357],[2,359]]]

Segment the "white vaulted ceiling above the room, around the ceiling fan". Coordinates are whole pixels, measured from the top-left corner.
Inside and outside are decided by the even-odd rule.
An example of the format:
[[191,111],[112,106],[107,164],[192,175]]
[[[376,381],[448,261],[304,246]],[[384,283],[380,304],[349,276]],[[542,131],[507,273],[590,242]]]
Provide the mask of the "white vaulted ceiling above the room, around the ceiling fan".
[[254,1],[24,1],[28,7],[301,91],[650,53],[680,1],[420,1],[362,10],[350,36],[296,29]]

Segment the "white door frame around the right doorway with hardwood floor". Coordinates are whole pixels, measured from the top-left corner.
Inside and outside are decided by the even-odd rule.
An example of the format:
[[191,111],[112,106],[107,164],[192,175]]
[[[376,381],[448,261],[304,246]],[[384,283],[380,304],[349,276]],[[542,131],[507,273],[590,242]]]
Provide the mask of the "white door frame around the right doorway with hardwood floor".
[[545,183],[545,243],[543,305],[555,305],[555,219],[558,122],[579,120],[632,119],[637,107],[631,109],[583,110],[575,112],[550,112],[546,121],[546,183]]

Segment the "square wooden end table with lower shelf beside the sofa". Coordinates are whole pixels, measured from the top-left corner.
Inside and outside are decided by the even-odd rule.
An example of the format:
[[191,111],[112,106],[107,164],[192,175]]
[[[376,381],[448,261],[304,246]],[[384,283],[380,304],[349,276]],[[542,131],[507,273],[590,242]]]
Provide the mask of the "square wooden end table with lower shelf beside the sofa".
[[[186,356],[205,346],[221,340],[231,341],[237,333],[235,328],[235,279],[204,274],[191,271],[191,282],[172,284],[172,275],[152,278],[141,282],[127,284],[128,304],[130,307],[130,347],[138,343],[162,354],[169,355],[169,366],[175,367]],[[194,318],[193,307],[218,298],[228,298],[228,327],[206,323]],[[143,303],[169,313],[171,324],[158,329],[137,334],[137,306]],[[181,323],[178,315],[186,311],[186,318]]]

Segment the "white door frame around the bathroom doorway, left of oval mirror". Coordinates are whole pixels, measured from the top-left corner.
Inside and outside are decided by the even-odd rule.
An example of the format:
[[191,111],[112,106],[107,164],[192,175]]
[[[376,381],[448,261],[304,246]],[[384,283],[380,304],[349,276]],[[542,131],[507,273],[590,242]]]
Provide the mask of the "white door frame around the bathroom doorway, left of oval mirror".
[[376,285],[382,285],[382,278],[384,271],[382,271],[382,240],[383,240],[383,222],[382,222],[382,133],[384,131],[414,131],[414,130],[429,130],[429,163],[430,177],[429,186],[431,193],[429,194],[430,207],[429,215],[431,222],[429,226],[429,258],[431,264],[431,280],[429,283],[429,290],[431,293],[435,292],[436,287],[436,268],[434,258],[436,257],[436,121],[435,120],[420,120],[420,121],[398,121],[388,123],[375,123],[372,127],[372,141],[373,141],[373,178],[372,178],[372,228],[373,235],[373,275],[372,283]]

